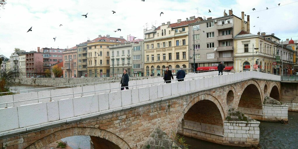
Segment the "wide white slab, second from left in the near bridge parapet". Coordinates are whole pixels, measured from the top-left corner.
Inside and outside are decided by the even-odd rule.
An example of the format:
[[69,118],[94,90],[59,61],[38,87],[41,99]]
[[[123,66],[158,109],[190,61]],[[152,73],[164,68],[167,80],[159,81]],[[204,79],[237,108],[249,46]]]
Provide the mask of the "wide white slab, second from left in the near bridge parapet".
[[18,119],[20,128],[48,122],[46,103],[19,106]]

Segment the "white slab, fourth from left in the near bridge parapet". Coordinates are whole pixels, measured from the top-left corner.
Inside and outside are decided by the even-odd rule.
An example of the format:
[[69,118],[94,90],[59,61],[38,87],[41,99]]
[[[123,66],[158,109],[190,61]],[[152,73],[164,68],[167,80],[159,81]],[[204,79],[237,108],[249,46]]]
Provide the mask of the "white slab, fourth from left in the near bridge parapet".
[[58,104],[60,119],[74,117],[74,106],[72,99],[59,100]]

